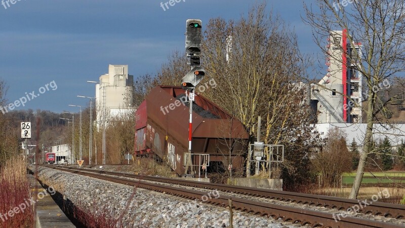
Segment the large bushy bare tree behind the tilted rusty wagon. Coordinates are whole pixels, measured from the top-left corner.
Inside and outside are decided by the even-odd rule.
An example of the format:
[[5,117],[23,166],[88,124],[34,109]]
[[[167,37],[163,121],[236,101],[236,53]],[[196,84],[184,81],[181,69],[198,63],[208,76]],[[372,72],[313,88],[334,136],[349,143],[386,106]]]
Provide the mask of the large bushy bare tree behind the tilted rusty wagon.
[[294,176],[298,169],[292,164],[300,159],[287,155],[299,150],[302,161],[314,143],[305,102],[308,90],[299,84],[308,63],[296,34],[265,8],[265,3],[257,4],[237,21],[215,18],[207,23],[201,60],[209,77],[201,84],[215,80],[217,86],[204,96],[240,120],[251,142],[261,116],[260,135],[266,144],[295,143],[298,147],[289,147],[284,164],[285,172]]

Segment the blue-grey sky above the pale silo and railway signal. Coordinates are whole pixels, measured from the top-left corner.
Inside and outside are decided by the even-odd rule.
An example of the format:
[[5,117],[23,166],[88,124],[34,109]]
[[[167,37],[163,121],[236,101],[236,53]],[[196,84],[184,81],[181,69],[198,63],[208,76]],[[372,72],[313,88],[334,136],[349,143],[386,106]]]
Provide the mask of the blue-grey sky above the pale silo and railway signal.
[[[3,1],[0,79],[9,87],[8,103],[28,97],[15,109],[54,112],[78,111],[68,104],[88,105],[76,96],[94,97],[95,84],[86,81],[99,81],[108,64],[128,65],[134,78],[155,74],[173,51],[183,51],[187,19],[200,19],[204,28],[210,18],[238,20],[255,4],[181,0],[168,9],[160,3],[169,0],[13,0],[9,6],[10,0]],[[267,10],[295,30],[303,53],[320,51],[302,22],[301,0],[267,1]]]

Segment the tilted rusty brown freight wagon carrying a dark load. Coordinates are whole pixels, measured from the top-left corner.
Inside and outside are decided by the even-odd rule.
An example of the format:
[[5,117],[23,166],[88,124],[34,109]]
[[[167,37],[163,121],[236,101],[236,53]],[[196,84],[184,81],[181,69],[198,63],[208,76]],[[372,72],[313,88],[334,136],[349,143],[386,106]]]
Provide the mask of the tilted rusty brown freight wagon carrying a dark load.
[[[180,176],[190,174],[190,165],[195,169],[204,166],[208,172],[213,166],[242,168],[248,132],[199,95],[193,102],[192,156],[188,154],[189,106],[185,100],[185,90],[175,86],[158,86],[148,94],[136,111],[135,153],[154,153]],[[209,155],[209,161],[204,155]]]

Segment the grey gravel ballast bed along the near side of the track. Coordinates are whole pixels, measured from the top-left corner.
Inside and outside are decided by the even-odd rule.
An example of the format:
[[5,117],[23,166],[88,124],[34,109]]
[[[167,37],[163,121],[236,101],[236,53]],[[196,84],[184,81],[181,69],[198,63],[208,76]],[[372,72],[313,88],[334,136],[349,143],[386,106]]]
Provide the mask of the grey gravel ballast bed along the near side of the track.
[[[123,227],[229,227],[227,208],[142,188],[39,167],[38,178],[65,199],[102,216],[123,215]],[[211,196],[215,197],[213,193]],[[102,213],[101,213],[101,212]],[[233,211],[233,227],[299,227],[264,216]]]

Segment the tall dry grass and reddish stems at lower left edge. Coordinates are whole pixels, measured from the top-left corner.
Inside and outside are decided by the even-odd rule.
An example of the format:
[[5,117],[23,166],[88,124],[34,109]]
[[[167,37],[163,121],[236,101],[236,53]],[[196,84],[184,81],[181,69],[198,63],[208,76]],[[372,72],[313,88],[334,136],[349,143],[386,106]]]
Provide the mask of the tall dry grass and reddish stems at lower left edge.
[[[29,181],[26,176],[27,165],[22,157],[12,157],[0,169],[0,213],[24,204],[31,197]],[[0,220],[1,227],[33,227],[33,210],[27,206],[24,211]]]

